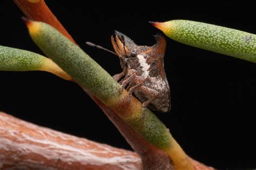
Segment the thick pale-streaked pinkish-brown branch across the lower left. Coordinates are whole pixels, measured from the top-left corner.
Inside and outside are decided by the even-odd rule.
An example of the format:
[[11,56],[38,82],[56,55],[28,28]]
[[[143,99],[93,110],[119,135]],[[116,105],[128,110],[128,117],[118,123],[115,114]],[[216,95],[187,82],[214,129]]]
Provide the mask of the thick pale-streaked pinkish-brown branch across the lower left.
[[0,169],[142,169],[136,153],[0,112]]

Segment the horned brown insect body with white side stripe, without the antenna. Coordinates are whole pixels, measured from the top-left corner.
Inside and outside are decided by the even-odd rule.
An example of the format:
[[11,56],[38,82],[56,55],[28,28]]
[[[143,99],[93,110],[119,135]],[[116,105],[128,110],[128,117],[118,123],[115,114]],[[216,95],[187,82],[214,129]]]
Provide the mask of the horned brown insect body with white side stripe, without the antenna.
[[[143,106],[158,112],[169,112],[170,87],[164,71],[165,38],[158,34],[153,46],[138,46],[120,32],[111,37],[114,51],[119,56],[123,72],[114,79],[126,85],[130,95],[133,93]],[[123,79],[122,79],[123,78]]]

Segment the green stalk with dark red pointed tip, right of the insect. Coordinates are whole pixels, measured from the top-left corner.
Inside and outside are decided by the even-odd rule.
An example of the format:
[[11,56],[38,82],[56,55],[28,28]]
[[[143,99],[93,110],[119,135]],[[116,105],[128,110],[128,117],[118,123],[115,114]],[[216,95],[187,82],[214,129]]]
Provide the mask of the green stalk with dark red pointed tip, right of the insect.
[[151,22],[177,42],[256,63],[256,35],[201,22]]

